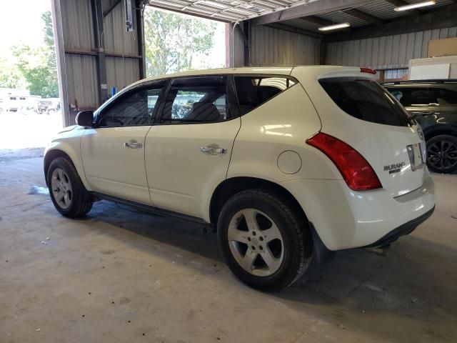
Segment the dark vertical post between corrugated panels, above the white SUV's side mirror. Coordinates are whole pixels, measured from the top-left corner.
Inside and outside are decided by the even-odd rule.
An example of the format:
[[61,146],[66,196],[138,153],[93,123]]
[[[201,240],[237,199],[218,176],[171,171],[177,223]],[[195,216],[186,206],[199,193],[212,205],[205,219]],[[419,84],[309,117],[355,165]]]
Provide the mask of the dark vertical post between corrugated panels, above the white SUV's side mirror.
[[97,55],[97,76],[98,76],[98,92],[99,106],[104,103],[108,97],[108,85],[106,84],[106,54],[104,44],[104,25],[103,25],[103,9],[101,8],[101,0],[91,0],[92,19],[94,21],[94,37]]

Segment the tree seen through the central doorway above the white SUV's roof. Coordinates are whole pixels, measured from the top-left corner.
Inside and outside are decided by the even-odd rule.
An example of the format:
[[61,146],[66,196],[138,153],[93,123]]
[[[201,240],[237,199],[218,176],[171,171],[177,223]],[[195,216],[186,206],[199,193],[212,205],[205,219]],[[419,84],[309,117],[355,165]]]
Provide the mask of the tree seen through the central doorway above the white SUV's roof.
[[193,59],[209,56],[216,24],[164,11],[144,12],[146,74],[157,76],[194,68]]

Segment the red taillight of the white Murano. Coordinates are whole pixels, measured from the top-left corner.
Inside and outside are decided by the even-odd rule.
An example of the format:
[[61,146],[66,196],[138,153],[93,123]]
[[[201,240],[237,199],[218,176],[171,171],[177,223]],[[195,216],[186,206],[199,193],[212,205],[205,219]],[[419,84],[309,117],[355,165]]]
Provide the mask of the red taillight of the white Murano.
[[381,188],[381,182],[371,165],[352,146],[339,139],[319,132],[306,140],[328,156],[341,172],[348,187],[354,191]]

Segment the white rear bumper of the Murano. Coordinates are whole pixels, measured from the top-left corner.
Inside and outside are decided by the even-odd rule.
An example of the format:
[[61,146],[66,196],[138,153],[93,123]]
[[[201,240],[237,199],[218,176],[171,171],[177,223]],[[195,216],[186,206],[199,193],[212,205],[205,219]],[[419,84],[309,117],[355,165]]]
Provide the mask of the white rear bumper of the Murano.
[[281,182],[316,228],[329,250],[379,246],[413,231],[435,207],[427,173],[422,187],[393,198],[384,189],[356,192],[343,180]]

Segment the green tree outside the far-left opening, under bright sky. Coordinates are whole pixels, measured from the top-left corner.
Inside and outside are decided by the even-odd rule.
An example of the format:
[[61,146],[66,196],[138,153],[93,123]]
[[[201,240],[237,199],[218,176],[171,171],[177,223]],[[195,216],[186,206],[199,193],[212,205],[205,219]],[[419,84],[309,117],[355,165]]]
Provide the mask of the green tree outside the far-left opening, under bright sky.
[[16,66],[24,75],[30,93],[44,98],[55,98],[59,96],[59,84],[51,12],[46,11],[41,14],[41,19],[44,22],[44,45],[32,48],[20,44],[13,46],[12,52],[16,57]]

